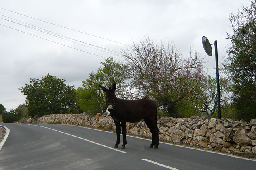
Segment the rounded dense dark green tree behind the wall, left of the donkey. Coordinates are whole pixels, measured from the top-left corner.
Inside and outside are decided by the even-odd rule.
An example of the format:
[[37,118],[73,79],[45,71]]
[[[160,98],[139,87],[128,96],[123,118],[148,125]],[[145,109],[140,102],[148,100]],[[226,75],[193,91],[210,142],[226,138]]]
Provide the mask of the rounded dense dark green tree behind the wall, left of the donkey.
[[74,86],[49,74],[42,79],[30,78],[30,84],[19,90],[27,96],[28,114],[32,117],[70,113],[76,107]]

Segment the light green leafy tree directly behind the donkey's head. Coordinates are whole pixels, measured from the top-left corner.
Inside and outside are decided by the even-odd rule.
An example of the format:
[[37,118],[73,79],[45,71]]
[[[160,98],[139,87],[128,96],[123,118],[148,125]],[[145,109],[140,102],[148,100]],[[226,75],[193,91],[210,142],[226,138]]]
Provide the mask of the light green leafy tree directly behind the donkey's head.
[[90,73],[89,79],[82,81],[82,87],[76,89],[78,96],[78,106],[83,112],[96,114],[106,110],[106,101],[103,91],[99,88],[99,84],[105,87],[117,85],[117,93],[120,97],[124,97],[126,88],[126,66],[115,62],[112,57],[101,62],[96,73]]

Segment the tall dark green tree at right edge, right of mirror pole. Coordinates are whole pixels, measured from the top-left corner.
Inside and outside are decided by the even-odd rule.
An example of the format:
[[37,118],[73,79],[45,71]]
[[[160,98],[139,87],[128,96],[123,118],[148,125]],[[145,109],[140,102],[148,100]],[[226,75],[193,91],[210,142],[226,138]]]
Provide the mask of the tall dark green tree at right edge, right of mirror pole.
[[228,33],[231,45],[223,65],[233,81],[235,118],[250,120],[256,118],[256,0],[229,19],[233,34]]

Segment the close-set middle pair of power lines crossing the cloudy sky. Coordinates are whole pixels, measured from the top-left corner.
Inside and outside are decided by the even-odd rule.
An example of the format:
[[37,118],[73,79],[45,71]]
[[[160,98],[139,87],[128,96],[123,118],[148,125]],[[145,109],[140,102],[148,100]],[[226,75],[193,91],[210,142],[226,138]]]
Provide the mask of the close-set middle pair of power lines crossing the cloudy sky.
[[[1,14],[0,14],[0,15],[1,15]],[[4,17],[9,18],[9,19],[13,19],[13,18],[7,17],[7,16],[5,16],[5,15],[1,15],[1,16],[4,16]],[[0,17],[0,19],[4,19],[4,18],[1,18],[1,17]],[[103,49],[103,50],[99,50],[99,49],[97,49],[97,48],[93,48],[93,47],[87,46],[87,47],[93,48],[93,49],[95,49],[95,50],[99,50],[99,51],[102,51],[102,52],[106,52],[106,51],[104,51],[104,50],[107,50],[107,51],[109,51],[109,52],[106,52],[106,53],[113,54],[113,55],[117,55],[117,56],[122,55],[122,54],[121,54],[120,52],[118,52],[118,51],[110,50],[110,49],[108,49],[108,48],[103,48],[103,47],[100,47],[100,46],[95,46],[95,45],[93,45],[93,44],[85,43],[85,42],[83,42],[83,41],[79,41],[79,40],[76,40],[76,39],[73,39],[73,38],[70,38],[70,37],[66,37],[66,36],[63,36],[63,35],[61,35],[61,34],[55,33],[55,32],[53,32],[53,31],[49,31],[49,30],[47,30],[47,29],[43,29],[43,28],[37,27],[37,26],[35,26],[35,25],[31,25],[31,24],[28,24],[28,23],[19,21],[19,20],[17,20],[17,19],[13,19],[13,20],[18,21],[18,22],[20,22],[20,23],[17,23],[17,22],[15,22],[15,21],[11,21],[11,20],[8,20],[8,19],[4,19],[4,20],[9,21],[9,22],[12,22],[12,23],[15,23],[15,24],[18,24],[18,25],[22,25],[22,26],[24,26],[24,27],[28,27],[28,28],[30,28],[30,29],[34,29],[34,30],[36,30],[36,31],[40,31],[40,32],[42,32],[42,33],[46,33],[46,34],[48,34],[48,35],[52,35],[52,36],[54,36],[54,37],[58,37],[58,38],[61,38],[61,39],[65,39],[65,40],[67,40],[67,41],[70,41],[69,39],[71,39],[71,40],[74,40],[74,41],[71,41],[71,42],[74,42],[74,43],[76,43],[76,44],[80,44],[79,42],[81,42],[81,43],[83,43],[83,44],[80,44],[80,45],[83,45],[83,46],[87,46],[87,45],[85,45],[85,44],[88,44],[88,45],[90,45],[90,46],[94,46],[94,47]],[[21,24],[21,23],[24,23],[24,24],[27,24],[27,25],[24,25],[24,24]],[[28,25],[31,25],[32,27],[30,27],[30,26],[28,26]],[[77,41],[77,42],[76,42],[76,41]],[[116,53],[116,54],[114,54],[114,53]]]

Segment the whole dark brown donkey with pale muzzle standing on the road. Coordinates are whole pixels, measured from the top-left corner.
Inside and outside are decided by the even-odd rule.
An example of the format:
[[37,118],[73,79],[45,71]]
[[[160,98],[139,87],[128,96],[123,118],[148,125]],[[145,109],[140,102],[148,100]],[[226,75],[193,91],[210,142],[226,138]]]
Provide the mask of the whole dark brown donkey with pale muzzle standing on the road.
[[144,119],[150,132],[152,133],[152,143],[150,147],[154,149],[158,148],[159,138],[158,138],[158,128],[157,128],[157,106],[156,104],[149,99],[143,98],[138,100],[125,100],[119,99],[114,94],[116,90],[116,83],[113,84],[113,87],[109,89],[99,85],[100,88],[106,93],[106,104],[108,111],[110,112],[111,117],[114,119],[116,125],[116,135],[117,140],[114,147],[118,147],[120,143],[120,133],[122,125],[122,134],[123,134],[123,145],[122,148],[125,148],[127,144],[126,141],[126,122],[136,123]]

